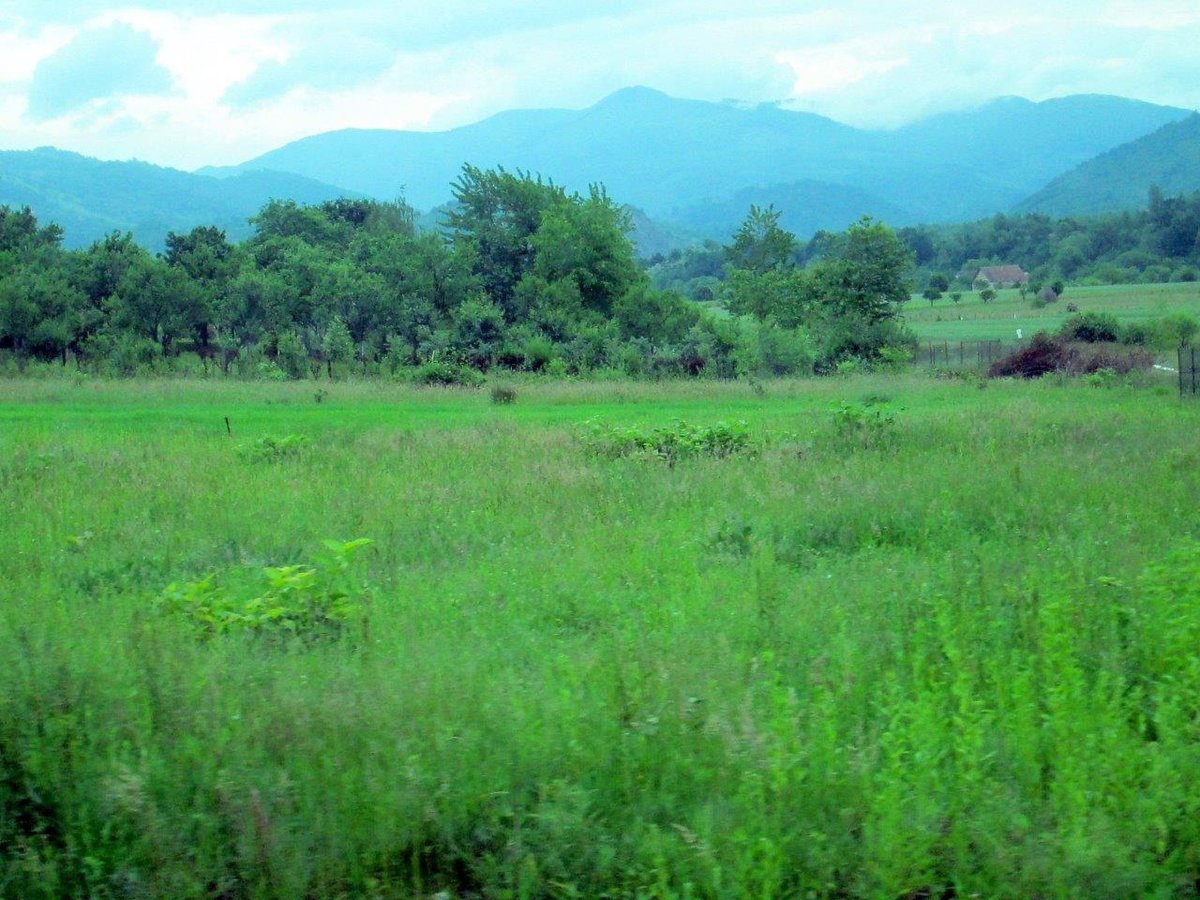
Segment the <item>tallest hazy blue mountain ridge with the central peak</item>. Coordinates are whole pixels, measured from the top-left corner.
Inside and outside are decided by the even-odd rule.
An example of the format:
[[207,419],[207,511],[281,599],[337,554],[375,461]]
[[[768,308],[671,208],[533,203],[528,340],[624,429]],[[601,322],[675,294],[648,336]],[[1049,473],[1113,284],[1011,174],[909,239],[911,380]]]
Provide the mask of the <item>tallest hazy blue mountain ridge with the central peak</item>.
[[738,193],[768,186],[802,185],[790,190],[824,198],[805,211],[811,230],[844,227],[853,205],[894,224],[990,215],[1186,115],[1103,95],[1040,103],[1006,97],[894,131],[864,131],[775,104],[629,88],[587,109],[510,110],[444,132],[317,134],[204,172],[289,172],[385,199],[403,193],[428,209],[450,198],[463,163],[505,166],[574,190],[600,181],[653,218],[725,238],[737,220],[721,210]]

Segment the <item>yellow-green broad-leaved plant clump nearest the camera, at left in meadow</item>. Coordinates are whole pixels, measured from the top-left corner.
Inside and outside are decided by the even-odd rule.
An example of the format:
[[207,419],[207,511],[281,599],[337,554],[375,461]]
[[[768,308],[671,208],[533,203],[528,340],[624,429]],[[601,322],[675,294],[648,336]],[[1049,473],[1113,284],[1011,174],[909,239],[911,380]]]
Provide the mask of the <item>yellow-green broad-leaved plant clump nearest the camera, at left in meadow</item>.
[[371,589],[355,584],[349,572],[354,554],[372,542],[326,540],[325,553],[312,565],[262,569],[262,589],[250,596],[238,590],[244,578],[233,577],[236,572],[224,578],[214,572],[168,584],[156,605],[205,640],[235,632],[290,636],[304,643],[336,638],[366,611]]

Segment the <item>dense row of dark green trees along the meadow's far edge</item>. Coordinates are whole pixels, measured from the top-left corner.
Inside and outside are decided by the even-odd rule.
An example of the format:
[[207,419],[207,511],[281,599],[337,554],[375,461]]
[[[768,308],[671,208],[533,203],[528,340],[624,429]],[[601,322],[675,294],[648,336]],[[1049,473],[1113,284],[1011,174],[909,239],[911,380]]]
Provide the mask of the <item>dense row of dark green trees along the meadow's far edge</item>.
[[0,352],[112,374],[457,382],[494,367],[806,373],[907,340],[911,258],[869,220],[802,275],[794,238],[751,210],[727,248],[726,316],[652,283],[601,187],[468,166],[454,197],[436,232],[402,202],[276,200],[241,244],[198,227],[160,254],[120,233],[67,251],[58,226],[0,208]]

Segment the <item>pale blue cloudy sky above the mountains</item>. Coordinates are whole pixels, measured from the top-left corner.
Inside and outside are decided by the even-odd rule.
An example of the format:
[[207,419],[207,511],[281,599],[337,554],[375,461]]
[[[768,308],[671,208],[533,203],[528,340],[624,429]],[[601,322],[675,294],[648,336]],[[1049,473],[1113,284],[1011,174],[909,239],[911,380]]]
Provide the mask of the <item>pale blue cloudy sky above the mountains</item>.
[[0,0],[0,149],[193,169],[624,86],[895,127],[996,96],[1200,107],[1196,0]]

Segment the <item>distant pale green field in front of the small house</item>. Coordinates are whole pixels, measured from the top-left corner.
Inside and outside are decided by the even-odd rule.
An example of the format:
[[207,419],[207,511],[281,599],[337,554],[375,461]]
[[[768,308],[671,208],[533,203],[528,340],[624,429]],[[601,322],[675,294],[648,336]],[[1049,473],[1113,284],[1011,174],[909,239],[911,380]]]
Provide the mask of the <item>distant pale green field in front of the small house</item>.
[[1062,300],[1040,310],[1016,290],[1001,290],[990,304],[970,292],[958,304],[946,296],[932,306],[914,296],[904,314],[922,341],[1015,341],[1018,329],[1026,338],[1058,329],[1070,316],[1067,304],[1080,312],[1110,312],[1121,322],[1150,322],[1175,312],[1200,317],[1200,282],[1068,287]]

